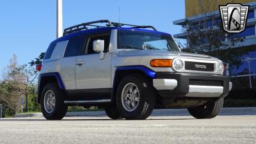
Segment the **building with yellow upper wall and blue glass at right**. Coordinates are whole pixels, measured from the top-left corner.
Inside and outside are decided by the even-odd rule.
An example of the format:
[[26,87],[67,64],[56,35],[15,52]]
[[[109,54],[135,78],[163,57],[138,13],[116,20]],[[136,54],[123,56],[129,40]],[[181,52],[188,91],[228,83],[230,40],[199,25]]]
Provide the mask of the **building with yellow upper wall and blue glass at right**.
[[[173,24],[186,26],[190,24],[200,25],[205,15],[216,17],[216,24],[220,24],[221,15],[219,5],[227,3],[241,3],[249,5],[248,19],[246,28],[238,36],[245,36],[243,43],[239,44],[236,49],[246,49],[248,52],[241,56],[243,63],[237,68],[232,67],[225,72],[231,77],[234,88],[251,88],[256,90],[256,1],[255,0],[185,0],[186,16],[184,19],[173,21]],[[214,23],[207,22],[207,26],[213,26]],[[177,33],[174,38],[187,39],[185,33]]]

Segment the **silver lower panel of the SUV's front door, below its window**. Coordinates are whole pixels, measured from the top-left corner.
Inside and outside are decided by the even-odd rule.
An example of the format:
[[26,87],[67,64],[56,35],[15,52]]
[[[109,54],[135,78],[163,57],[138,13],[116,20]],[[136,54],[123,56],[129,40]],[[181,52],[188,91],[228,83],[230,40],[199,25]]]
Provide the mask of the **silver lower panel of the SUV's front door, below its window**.
[[104,59],[99,54],[77,56],[76,61],[84,61],[76,65],[76,88],[111,88],[111,54],[106,53]]

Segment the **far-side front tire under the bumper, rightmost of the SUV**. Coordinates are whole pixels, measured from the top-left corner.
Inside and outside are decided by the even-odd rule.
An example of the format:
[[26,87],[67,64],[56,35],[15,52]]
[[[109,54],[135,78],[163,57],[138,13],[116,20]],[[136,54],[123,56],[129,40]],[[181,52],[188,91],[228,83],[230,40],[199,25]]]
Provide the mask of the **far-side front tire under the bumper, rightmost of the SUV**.
[[203,106],[197,106],[195,108],[188,108],[189,113],[198,119],[214,118],[217,116],[221,108],[223,107],[224,99],[218,99],[215,102],[207,102]]

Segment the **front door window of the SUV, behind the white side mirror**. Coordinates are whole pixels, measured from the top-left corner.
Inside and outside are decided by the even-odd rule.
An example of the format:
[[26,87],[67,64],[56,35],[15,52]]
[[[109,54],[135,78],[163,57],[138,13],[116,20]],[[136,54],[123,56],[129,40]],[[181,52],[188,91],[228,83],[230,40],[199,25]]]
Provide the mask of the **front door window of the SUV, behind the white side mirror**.
[[109,34],[90,37],[88,47],[87,47],[85,53],[86,54],[95,54],[95,53],[97,53],[97,52],[93,51],[93,41],[94,40],[104,40],[104,52],[108,52],[109,38],[110,38]]

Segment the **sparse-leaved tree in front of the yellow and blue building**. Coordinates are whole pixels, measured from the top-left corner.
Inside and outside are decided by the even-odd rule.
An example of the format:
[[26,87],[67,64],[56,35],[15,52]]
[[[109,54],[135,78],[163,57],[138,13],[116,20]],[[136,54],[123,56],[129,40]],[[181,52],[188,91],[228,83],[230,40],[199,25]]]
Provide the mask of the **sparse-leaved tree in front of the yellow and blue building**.
[[202,17],[199,21],[186,21],[182,26],[182,33],[186,35],[187,42],[179,42],[182,51],[209,54],[230,66],[239,67],[241,56],[246,51],[236,49],[244,41],[244,37],[227,33],[223,30],[222,22],[216,18],[214,8],[218,8],[216,1],[198,0],[198,7]]

